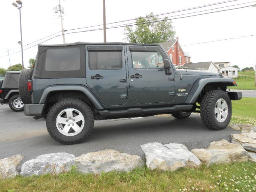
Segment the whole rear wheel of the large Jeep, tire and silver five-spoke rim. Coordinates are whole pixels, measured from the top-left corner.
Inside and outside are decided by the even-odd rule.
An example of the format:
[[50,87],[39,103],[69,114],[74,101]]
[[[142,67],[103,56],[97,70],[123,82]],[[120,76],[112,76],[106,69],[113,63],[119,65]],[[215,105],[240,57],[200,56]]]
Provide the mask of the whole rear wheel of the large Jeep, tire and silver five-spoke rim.
[[62,144],[77,144],[91,134],[94,115],[90,107],[81,100],[68,98],[50,108],[46,126],[54,140]]

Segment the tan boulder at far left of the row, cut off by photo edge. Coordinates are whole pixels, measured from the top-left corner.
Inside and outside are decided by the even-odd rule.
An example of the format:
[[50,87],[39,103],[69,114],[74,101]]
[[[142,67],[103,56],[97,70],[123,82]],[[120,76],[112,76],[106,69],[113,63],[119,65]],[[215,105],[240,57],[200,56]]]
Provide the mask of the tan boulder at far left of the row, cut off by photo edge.
[[16,168],[22,159],[23,156],[21,155],[0,159],[0,179],[14,178],[14,176],[18,175],[19,172],[16,171]]

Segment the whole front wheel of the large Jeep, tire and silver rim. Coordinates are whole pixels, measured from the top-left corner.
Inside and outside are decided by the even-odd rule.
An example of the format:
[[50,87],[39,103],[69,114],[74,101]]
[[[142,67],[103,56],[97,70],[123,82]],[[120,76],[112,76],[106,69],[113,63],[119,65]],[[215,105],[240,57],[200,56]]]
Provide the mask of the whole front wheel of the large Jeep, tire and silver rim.
[[201,102],[200,115],[203,124],[208,128],[226,128],[232,116],[232,103],[228,94],[222,90],[207,92]]

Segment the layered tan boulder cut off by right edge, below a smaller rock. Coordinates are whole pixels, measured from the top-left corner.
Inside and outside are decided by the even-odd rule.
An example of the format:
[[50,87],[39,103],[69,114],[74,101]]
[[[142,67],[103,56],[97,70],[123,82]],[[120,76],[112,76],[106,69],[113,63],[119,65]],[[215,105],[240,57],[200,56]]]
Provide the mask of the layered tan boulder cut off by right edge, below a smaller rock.
[[256,133],[232,134],[232,143],[256,148]]

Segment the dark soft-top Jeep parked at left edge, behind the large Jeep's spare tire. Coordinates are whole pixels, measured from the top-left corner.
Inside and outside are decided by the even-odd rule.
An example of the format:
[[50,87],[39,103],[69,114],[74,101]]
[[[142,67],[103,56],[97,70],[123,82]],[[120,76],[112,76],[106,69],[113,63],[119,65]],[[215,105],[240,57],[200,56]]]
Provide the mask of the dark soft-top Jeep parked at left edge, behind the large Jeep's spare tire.
[[6,71],[4,80],[0,81],[0,103],[9,104],[14,111],[23,111],[23,102],[18,90],[20,71]]

